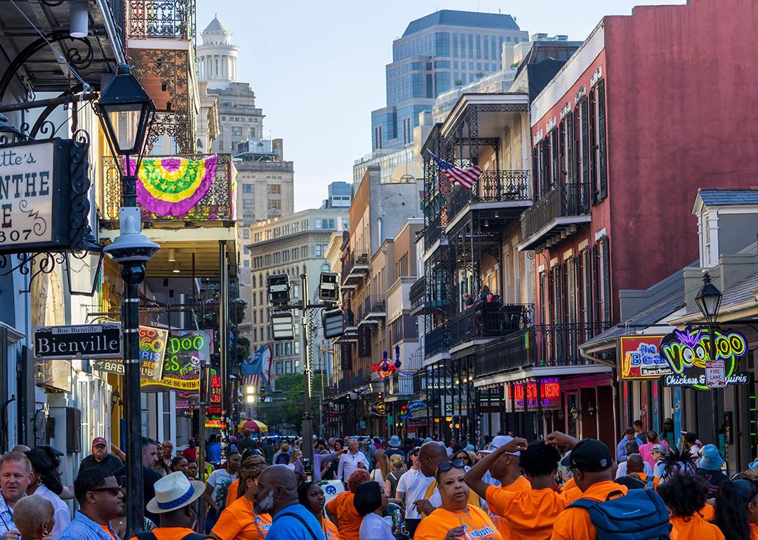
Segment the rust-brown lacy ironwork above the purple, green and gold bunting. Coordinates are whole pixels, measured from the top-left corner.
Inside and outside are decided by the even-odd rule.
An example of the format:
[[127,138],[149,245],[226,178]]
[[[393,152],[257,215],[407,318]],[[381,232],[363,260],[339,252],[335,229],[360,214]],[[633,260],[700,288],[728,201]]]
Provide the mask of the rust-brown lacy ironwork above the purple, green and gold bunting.
[[162,88],[168,92],[171,101],[157,103],[158,114],[150,126],[147,137],[147,153],[152,152],[155,142],[162,135],[174,138],[180,153],[193,154],[197,150],[196,110],[191,92],[192,77],[186,52],[171,49],[133,48],[132,72],[144,80],[148,76],[158,76]]

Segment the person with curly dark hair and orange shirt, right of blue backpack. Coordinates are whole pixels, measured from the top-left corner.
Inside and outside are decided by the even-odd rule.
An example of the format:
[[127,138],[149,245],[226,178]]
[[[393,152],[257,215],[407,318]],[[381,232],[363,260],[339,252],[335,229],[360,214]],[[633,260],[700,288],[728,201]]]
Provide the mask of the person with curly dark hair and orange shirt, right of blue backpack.
[[706,504],[708,481],[689,473],[675,473],[658,486],[658,495],[669,507],[675,540],[724,540],[719,527],[703,520],[697,510]]

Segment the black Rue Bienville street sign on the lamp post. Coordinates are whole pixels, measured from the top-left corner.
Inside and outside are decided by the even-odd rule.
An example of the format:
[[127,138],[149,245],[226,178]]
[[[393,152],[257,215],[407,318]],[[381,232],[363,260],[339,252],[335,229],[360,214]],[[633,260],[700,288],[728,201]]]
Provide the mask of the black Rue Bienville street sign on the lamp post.
[[38,326],[34,329],[34,355],[42,360],[120,357],[121,325]]

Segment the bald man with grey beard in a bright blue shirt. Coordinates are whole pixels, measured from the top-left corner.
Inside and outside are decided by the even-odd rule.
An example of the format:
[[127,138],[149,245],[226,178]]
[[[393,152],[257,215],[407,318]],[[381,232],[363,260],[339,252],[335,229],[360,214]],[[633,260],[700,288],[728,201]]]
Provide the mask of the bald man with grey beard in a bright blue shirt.
[[266,540],[324,540],[313,513],[299,504],[297,479],[287,465],[268,467],[258,477],[253,511],[271,514]]

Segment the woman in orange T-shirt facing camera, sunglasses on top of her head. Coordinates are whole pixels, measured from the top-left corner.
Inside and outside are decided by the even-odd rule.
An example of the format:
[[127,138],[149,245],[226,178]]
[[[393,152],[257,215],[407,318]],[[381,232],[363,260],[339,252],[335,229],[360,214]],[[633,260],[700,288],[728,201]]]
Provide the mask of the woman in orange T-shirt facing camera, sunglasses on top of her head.
[[421,520],[413,540],[503,540],[487,512],[468,504],[468,485],[461,460],[443,461],[437,467],[442,506]]

